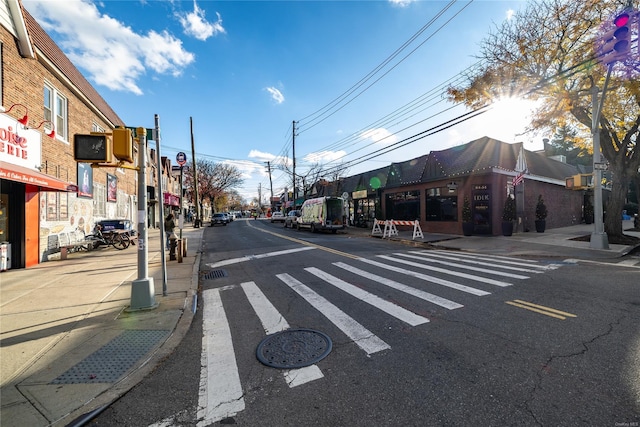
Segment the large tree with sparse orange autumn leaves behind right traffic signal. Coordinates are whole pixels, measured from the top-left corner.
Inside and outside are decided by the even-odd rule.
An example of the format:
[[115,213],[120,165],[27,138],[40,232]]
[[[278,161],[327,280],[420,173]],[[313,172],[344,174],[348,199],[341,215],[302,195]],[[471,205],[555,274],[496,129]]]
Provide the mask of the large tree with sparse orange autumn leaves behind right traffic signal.
[[[463,87],[449,88],[452,100],[477,108],[502,97],[539,99],[531,127],[581,127],[590,135],[591,93],[603,87],[605,66],[597,62],[601,24],[626,0],[538,0],[497,26],[483,41],[481,65]],[[632,37],[633,39],[633,37]],[[605,231],[621,237],[621,212],[640,153],[640,70],[633,52],[614,66],[600,119],[600,143],[613,172]],[[584,141],[588,142],[588,141]]]

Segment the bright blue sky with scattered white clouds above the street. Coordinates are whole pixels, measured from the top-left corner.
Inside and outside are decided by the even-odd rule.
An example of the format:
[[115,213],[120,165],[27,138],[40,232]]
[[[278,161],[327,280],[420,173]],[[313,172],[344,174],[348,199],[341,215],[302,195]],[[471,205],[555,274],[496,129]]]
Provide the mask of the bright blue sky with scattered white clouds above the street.
[[[296,172],[346,175],[482,136],[542,146],[513,104],[389,151],[467,110],[447,82],[477,62],[480,41],[524,6],[510,1],[24,0],[24,7],[127,126],[160,118],[161,154],[230,162],[240,194],[291,188]],[[498,111],[499,110],[499,111]],[[401,145],[401,144],[398,144]]]

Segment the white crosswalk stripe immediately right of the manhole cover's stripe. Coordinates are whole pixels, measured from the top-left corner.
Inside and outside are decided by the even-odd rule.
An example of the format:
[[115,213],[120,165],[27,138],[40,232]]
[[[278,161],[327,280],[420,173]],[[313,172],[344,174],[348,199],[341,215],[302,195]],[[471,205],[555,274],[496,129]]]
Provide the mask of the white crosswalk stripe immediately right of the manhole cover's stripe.
[[331,323],[336,325],[368,355],[391,348],[389,344],[375,336],[355,319],[318,295],[308,286],[305,286],[288,274],[278,274],[276,277],[307,300],[316,310],[320,311]]

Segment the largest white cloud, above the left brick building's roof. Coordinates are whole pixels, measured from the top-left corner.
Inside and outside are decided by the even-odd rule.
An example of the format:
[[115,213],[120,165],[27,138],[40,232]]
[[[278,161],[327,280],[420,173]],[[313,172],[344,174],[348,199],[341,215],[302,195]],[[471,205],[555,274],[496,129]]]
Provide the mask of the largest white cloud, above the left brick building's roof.
[[135,33],[79,0],[25,1],[25,7],[90,80],[111,90],[142,94],[138,80],[147,71],[178,76],[195,60],[182,41],[166,31]]

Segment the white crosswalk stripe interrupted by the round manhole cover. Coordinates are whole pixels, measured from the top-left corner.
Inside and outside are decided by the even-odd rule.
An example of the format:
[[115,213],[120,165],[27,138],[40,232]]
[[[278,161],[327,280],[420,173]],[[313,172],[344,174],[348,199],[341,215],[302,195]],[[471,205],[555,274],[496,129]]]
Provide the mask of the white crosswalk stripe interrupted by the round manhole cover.
[[[287,323],[284,316],[278,312],[254,282],[242,283],[240,286],[242,286],[249,303],[258,315],[267,335],[289,329],[289,323]],[[291,388],[324,377],[322,371],[316,365],[284,371],[283,375]]]

